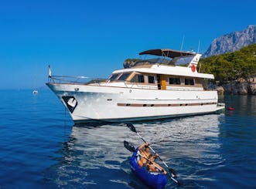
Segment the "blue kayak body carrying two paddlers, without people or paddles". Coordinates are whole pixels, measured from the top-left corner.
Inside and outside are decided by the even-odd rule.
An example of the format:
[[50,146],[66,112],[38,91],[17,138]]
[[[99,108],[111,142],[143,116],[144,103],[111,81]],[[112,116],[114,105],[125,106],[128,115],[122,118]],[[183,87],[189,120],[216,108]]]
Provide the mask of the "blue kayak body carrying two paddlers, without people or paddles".
[[167,184],[166,174],[162,172],[148,172],[145,167],[139,167],[137,163],[138,148],[131,156],[130,165],[131,171],[141,180],[145,185],[150,188],[165,188]]

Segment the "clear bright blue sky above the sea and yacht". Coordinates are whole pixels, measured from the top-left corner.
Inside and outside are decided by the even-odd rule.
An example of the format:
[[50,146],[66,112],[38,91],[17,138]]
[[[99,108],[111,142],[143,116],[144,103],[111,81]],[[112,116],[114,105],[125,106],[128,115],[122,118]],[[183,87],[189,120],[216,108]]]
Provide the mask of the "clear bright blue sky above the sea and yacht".
[[[148,49],[207,51],[256,25],[254,0],[0,1],[0,89],[39,89],[59,76],[108,78]],[[200,44],[200,45],[199,45]]]

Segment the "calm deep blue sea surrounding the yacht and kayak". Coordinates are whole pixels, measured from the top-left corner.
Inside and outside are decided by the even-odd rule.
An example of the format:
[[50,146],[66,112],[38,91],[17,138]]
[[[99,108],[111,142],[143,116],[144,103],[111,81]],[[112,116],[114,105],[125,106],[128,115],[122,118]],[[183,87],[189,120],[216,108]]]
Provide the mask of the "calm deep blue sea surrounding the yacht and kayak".
[[[142,141],[128,127],[73,127],[49,90],[0,96],[0,188],[146,188],[129,168],[123,141]],[[222,101],[235,110],[134,123],[178,172],[167,188],[256,187],[256,96]]]

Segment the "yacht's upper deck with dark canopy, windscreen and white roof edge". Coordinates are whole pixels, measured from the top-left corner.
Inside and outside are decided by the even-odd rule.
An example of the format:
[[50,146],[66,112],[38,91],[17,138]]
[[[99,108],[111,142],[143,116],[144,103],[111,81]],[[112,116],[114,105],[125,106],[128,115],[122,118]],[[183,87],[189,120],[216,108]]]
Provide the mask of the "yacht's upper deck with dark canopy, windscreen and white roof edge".
[[[140,52],[139,55],[157,56],[155,59],[144,59],[133,62],[129,68],[115,70],[113,73],[138,72],[193,78],[214,79],[213,74],[198,73],[196,66],[201,54],[172,49],[152,49]],[[186,66],[180,66],[186,65]]]

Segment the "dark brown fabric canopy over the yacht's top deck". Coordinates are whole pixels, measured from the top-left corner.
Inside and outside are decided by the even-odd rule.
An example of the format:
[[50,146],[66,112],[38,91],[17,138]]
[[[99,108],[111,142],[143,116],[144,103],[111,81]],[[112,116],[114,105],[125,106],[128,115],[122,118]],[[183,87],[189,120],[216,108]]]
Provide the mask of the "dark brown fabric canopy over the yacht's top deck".
[[177,51],[172,49],[152,49],[140,52],[139,55],[155,55],[155,56],[166,56],[169,58],[176,58],[180,56],[195,56],[195,52]]

